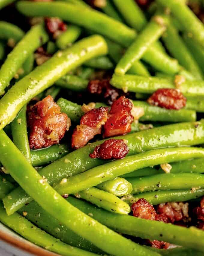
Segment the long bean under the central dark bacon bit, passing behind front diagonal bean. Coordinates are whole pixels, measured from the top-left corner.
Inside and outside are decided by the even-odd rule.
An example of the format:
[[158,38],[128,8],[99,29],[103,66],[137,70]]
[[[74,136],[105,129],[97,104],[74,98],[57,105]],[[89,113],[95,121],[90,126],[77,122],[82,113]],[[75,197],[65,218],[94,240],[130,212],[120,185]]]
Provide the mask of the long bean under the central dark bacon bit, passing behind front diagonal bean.
[[[118,136],[116,138],[128,140],[129,155],[134,155],[153,148],[198,145],[204,143],[204,123],[193,122],[171,124],[125,136]],[[97,141],[77,149],[58,161],[44,167],[39,173],[41,176],[47,178],[49,184],[53,184],[59,182],[63,178],[76,175],[103,164],[105,161],[98,158],[93,159],[88,156],[96,145],[100,145],[103,142],[104,140]],[[119,176],[119,174],[117,176]],[[30,201],[32,201],[32,198],[20,187],[13,190],[4,198],[4,203],[6,202],[8,205],[7,211],[10,214]]]

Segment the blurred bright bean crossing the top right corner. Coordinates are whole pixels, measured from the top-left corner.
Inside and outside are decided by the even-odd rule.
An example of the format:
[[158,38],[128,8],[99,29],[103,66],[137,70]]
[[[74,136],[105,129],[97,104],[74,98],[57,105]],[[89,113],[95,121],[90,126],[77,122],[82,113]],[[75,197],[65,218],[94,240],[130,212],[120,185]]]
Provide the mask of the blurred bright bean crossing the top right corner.
[[172,14],[179,20],[182,27],[192,33],[192,37],[204,47],[204,27],[203,23],[196,17],[196,15],[178,0],[157,0],[160,4],[169,7]]

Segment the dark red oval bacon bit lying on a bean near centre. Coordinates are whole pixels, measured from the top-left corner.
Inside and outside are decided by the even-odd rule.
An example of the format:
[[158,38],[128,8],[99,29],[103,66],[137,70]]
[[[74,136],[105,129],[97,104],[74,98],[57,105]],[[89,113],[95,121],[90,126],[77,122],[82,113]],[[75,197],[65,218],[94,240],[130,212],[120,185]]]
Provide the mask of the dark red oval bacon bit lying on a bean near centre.
[[123,139],[108,139],[95,147],[91,158],[122,159],[129,152],[128,145]]

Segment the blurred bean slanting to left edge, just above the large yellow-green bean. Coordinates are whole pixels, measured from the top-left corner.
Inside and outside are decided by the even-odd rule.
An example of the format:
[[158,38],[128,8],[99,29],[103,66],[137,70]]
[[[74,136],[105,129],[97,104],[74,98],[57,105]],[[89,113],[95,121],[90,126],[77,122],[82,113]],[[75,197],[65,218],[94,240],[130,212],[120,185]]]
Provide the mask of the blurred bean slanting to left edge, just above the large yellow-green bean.
[[9,85],[10,80],[29,55],[47,40],[48,35],[44,27],[42,25],[36,25],[13,48],[0,69],[0,94],[4,93],[4,89]]

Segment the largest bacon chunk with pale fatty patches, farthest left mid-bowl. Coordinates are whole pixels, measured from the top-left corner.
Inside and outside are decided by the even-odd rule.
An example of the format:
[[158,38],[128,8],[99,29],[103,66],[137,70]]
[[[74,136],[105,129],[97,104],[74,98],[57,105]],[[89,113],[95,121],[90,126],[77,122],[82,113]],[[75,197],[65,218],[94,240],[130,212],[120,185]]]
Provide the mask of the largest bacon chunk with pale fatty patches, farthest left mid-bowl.
[[57,144],[69,130],[70,119],[48,95],[28,108],[29,145],[39,149]]

